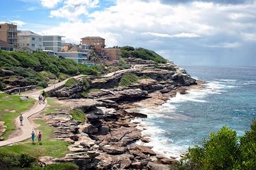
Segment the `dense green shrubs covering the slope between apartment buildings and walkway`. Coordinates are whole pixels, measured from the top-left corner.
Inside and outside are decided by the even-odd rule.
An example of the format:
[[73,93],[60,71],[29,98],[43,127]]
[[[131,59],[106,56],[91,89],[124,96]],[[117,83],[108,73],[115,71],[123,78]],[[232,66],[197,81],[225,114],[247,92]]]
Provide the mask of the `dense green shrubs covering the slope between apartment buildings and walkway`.
[[[12,78],[0,75],[0,90],[6,85],[19,84],[20,86],[37,85],[47,87],[51,80],[65,80],[77,74],[100,75],[104,66],[86,66],[77,64],[74,60],[59,59],[44,52],[8,52],[0,50],[0,70],[13,71]],[[20,83],[20,76],[23,78]],[[15,82],[19,81],[19,82]]]

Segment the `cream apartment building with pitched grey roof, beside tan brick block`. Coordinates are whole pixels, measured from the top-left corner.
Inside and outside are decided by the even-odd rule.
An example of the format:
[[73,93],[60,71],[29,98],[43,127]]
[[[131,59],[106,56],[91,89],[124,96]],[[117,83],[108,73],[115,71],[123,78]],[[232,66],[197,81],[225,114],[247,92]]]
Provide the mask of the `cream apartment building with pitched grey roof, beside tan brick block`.
[[31,51],[44,50],[43,36],[32,31],[19,31],[18,36],[20,48],[29,48]]

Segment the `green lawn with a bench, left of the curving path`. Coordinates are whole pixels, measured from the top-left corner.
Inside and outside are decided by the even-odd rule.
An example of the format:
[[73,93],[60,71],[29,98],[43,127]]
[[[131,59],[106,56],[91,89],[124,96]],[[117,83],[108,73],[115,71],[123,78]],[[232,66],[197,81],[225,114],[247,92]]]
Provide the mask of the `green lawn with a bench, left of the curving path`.
[[0,120],[5,122],[4,125],[7,126],[6,132],[3,135],[4,139],[15,130],[14,120],[20,115],[20,112],[29,110],[35,102],[35,99],[20,101],[20,96],[0,93]]

